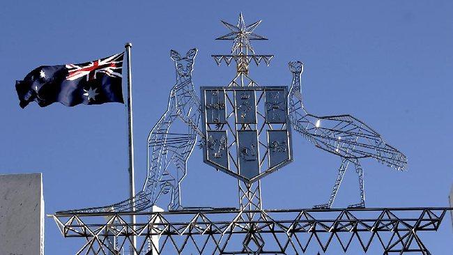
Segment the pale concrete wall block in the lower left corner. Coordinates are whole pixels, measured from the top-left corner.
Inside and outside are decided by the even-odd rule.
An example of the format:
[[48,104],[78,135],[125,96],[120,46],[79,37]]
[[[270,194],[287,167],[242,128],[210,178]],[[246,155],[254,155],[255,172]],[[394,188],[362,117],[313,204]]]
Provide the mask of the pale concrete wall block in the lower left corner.
[[44,254],[41,173],[0,175],[0,254]]

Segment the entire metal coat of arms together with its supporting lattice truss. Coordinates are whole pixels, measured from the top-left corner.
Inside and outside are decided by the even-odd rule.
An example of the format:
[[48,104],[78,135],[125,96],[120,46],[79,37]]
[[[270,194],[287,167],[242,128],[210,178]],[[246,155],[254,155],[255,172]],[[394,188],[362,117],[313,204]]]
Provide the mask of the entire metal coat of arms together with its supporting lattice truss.
[[[84,238],[77,254],[118,255],[125,254],[128,247],[132,254],[146,255],[319,254],[332,246],[330,249],[354,254],[358,250],[366,253],[379,248],[383,254],[430,254],[420,233],[437,231],[447,210],[453,208],[364,208],[363,170],[359,160],[372,157],[402,170],[406,167],[406,156],[385,144],[381,135],[353,116],[309,114],[302,104],[300,61],[289,63],[293,73],[289,93],[286,87],[259,86],[249,77],[249,64],[269,65],[273,57],[255,54],[250,43],[250,40],[267,40],[254,33],[261,21],[246,25],[240,13],[236,26],[222,23],[229,33],[217,40],[233,40],[231,54],[212,56],[217,65],[235,63],[236,76],[227,86],[202,87],[200,101],[192,84],[197,49],[191,49],[185,56],[171,51],[176,84],[171,89],[167,110],[148,137],[148,169],[143,190],[132,199],[110,206],[49,215],[64,237]],[[279,92],[268,94],[269,91]],[[283,102],[278,96],[281,94],[284,94]],[[250,101],[238,103],[240,100]],[[282,108],[284,120],[268,121],[268,114],[273,119]],[[256,115],[252,121],[238,121],[238,116],[245,119],[252,112]],[[341,157],[338,177],[326,204],[313,209],[263,210],[260,178],[291,162],[290,126],[316,147]],[[267,144],[260,140],[260,135],[266,133],[263,130],[267,132]],[[233,135],[231,139],[227,139],[227,132]],[[239,138],[247,137],[247,132],[252,135]],[[277,135],[278,132],[282,133]],[[204,210],[181,206],[180,184],[197,135],[201,137],[204,162],[238,178],[239,208]],[[270,139],[271,136],[274,137]],[[234,147],[236,152],[231,153]],[[276,157],[275,153],[280,154]],[[241,169],[241,157],[245,163],[254,161],[257,167],[247,163]],[[229,162],[234,165],[232,168]],[[330,209],[350,163],[358,173],[360,203],[345,209]],[[268,166],[261,171],[263,164]],[[153,207],[153,212],[146,212],[162,195],[169,196],[169,212],[159,211],[157,207]],[[132,212],[131,202],[135,203]],[[132,215],[137,217],[135,224],[127,221]]]

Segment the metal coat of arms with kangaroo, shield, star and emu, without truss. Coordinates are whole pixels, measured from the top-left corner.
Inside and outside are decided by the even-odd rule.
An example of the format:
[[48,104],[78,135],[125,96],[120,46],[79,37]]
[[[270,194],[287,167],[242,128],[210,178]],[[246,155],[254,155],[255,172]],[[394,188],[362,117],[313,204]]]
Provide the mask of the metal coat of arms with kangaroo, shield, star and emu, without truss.
[[141,211],[151,208],[166,194],[169,210],[182,210],[180,186],[197,134],[202,140],[204,162],[240,180],[240,208],[261,209],[259,180],[293,161],[291,128],[316,147],[341,157],[328,203],[314,208],[332,206],[350,163],[358,173],[360,188],[360,202],[351,205],[353,208],[365,206],[360,159],[375,158],[398,170],[406,167],[406,156],[357,118],[307,112],[300,91],[302,62],[289,63],[293,73],[289,91],[286,86],[260,86],[249,77],[249,65],[269,65],[273,57],[255,54],[250,42],[267,40],[254,33],[261,21],[246,25],[241,13],[236,25],[222,23],[229,33],[217,40],[233,40],[233,47],[231,54],[213,58],[217,65],[235,63],[236,77],[227,86],[202,86],[200,100],[192,83],[197,49],[190,49],[185,56],[171,50],[176,84],[171,88],[167,110],[148,137],[148,174],[143,189],[132,199],[113,205],[66,212],[121,212],[132,208]]

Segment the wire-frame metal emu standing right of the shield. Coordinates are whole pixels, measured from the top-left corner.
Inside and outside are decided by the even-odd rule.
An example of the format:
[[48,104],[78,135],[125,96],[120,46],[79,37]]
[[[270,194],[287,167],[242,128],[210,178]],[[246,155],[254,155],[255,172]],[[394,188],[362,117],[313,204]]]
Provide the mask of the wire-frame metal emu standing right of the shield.
[[350,208],[364,208],[364,180],[363,169],[359,160],[372,157],[388,167],[404,170],[407,164],[406,156],[396,148],[386,144],[381,135],[357,118],[344,114],[337,116],[315,116],[309,114],[302,102],[300,77],[303,64],[300,61],[289,63],[293,73],[293,82],[289,89],[289,116],[293,130],[302,134],[316,147],[341,157],[338,176],[330,194],[328,203],[314,206],[314,208],[330,208],[343,180],[344,173],[350,163],[354,164],[358,174],[360,188],[360,203]]

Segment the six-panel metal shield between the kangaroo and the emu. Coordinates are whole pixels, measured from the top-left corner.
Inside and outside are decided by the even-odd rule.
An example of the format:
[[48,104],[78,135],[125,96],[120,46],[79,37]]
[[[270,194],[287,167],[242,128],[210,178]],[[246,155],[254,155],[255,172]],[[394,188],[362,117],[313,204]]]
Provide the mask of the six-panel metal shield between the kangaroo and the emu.
[[286,86],[203,86],[204,162],[253,183],[293,161]]

